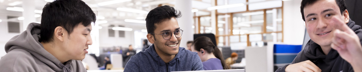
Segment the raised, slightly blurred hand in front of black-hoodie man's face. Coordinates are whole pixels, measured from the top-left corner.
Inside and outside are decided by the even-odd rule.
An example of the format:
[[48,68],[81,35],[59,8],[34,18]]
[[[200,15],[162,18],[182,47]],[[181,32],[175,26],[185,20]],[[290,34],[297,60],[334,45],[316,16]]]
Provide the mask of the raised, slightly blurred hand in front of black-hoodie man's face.
[[334,30],[331,47],[337,50],[339,55],[350,63],[354,71],[362,66],[362,46],[359,37],[346,24],[341,30]]

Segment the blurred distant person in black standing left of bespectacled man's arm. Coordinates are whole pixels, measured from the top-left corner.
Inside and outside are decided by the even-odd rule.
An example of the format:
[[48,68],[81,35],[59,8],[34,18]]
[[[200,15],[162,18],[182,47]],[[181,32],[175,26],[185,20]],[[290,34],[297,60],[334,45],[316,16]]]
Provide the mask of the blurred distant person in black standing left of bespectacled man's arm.
[[135,54],[136,54],[136,51],[133,50],[132,45],[129,45],[128,49],[122,52],[122,55],[123,55],[123,67],[126,67],[126,64],[127,64],[128,60],[130,60],[131,57],[133,55],[135,55]]

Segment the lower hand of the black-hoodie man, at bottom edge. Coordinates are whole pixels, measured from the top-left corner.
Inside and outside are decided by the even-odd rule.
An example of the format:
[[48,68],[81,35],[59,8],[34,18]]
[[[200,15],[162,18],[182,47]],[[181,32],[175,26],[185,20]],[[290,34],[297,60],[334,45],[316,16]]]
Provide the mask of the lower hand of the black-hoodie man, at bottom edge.
[[303,62],[290,64],[289,66],[285,67],[285,72],[321,72],[322,70],[319,69],[313,62],[310,60],[306,60]]

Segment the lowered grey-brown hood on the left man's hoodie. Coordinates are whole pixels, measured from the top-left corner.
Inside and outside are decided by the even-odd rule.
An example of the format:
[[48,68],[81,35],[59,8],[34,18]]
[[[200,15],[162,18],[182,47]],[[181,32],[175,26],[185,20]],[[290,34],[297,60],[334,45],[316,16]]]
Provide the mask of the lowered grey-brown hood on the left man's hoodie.
[[41,60],[41,62],[47,64],[54,71],[70,72],[69,68],[71,67],[71,63],[73,63],[73,60],[69,60],[62,64],[57,58],[46,51],[39,42],[39,39],[41,38],[40,29],[39,23],[30,23],[26,28],[26,31],[22,32],[20,35],[14,36],[5,44],[6,53],[14,49],[24,49]]

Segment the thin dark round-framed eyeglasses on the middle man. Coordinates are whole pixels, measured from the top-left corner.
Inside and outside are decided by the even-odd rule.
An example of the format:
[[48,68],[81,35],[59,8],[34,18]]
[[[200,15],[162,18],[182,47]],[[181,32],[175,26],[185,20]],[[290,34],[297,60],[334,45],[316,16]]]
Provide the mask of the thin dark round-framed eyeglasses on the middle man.
[[[176,38],[181,37],[183,30],[179,29],[176,30],[175,32],[173,32],[173,34],[176,36]],[[156,33],[150,33],[150,34],[156,34]],[[162,34],[157,34],[157,35],[162,35],[163,39],[165,40],[169,40],[171,39],[172,36],[172,32],[168,31],[168,32],[163,32]]]

